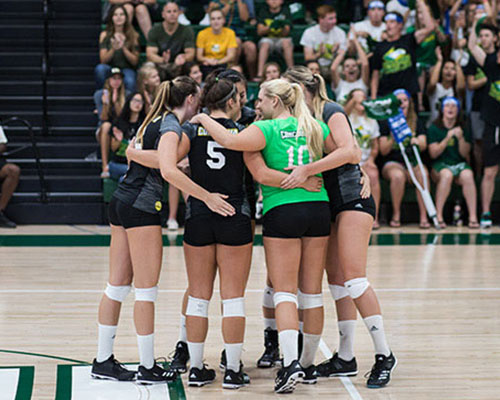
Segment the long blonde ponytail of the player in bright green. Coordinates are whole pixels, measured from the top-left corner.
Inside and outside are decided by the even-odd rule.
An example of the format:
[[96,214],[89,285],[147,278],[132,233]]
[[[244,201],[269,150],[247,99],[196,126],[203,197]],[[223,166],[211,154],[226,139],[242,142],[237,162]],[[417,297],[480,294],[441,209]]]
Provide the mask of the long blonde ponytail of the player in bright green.
[[313,158],[319,158],[323,155],[323,129],[311,115],[300,85],[291,83],[290,86],[295,92],[295,102],[291,110],[292,115],[298,121],[297,132],[304,133],[309,153]]

